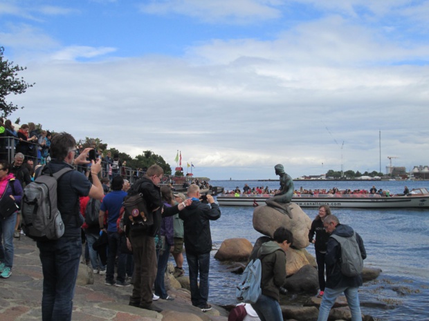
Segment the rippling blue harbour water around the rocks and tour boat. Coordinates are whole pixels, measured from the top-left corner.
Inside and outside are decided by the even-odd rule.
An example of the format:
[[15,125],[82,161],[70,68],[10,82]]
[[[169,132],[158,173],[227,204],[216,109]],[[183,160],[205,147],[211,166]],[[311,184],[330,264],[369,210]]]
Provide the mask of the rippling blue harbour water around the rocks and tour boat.
[[[223,186],[232,190],[236,186],[243,188],[268,186],[278,188],[278,182],[257,181],[210,181],[212,186]],[[339,189],[365,188],[372,185],[389,190],[391,193],[402,193],[405,185],[408,188],[429,187],[429,182],[331,182],[310,181],[295,182],[295,189],[332,188]],[[304,208],[304,212],[313,217],[317,208]],[[367,250],[365,266],[383,270],[374,282],[365,283],[360,288],[360,301],[363,313],[378,320],[408,321],[429,320],[429,210],[417,208],[412,210],[334,208],[333,214],[340,222],[351,225],[362,237]],[[210,222],[213,246],[219,249],[223,240],[233,237],[244,237],[254,243],[262,236],[253,229],[252,207],[221,207],[222,216]],[[307,251],[314,255],[313,246]],[[226,272],[229,262],[210,262],[210,295],[209,300],[215,304],[235,304],[235,284],[239,275]],[[186,261],[186,260],[185,260]],[[186,262],[185,262],[186,265]],[[187,266],[185,267],[187,269]],[[302,304],[307,296],[282,296],[282,304]],[[367,302],[387,304],[392,309],[367,307]]]

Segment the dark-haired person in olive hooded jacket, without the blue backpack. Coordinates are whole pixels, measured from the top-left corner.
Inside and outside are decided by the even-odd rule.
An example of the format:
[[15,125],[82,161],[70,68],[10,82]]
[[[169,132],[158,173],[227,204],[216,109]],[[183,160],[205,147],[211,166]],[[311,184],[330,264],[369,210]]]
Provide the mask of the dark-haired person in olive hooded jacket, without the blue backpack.
[[252,307],[262,321],[283,321],[279,290],[286,283],[286,251],[292,244],[292,232],[279,227],[273,240],[262,244],[257,251],[262,266],[262,295]]

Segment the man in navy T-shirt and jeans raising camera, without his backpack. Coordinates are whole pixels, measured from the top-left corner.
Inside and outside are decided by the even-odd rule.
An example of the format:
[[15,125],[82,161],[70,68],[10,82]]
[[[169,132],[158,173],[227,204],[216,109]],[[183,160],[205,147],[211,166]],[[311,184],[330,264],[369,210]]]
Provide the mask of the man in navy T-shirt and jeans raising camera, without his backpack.
[[[56,134],[51,142],[51,162],[45,166],[52,173],[62,168],[73,168],[76,141],[68,133]],[[86,154],[91,148],[74,160],[75,164],[88,164]],[[82,255],[82,237],[80,226],[84,220],[79,212],[79,197],[101,200],[103,188],[98,172],[101,170],[100,159],[91,161],[93,183],[78,171],[69,171],[62,175],[57,183],[58,210],[64,222],[64,235],[58,240],[37,241],[43,271],[42,320],[71,320],[73,295]]]

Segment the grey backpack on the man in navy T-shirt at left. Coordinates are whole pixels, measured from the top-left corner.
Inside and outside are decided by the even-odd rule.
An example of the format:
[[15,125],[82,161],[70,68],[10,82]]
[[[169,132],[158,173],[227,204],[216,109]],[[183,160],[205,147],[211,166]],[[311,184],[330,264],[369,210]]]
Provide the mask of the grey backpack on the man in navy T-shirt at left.
[[64,223],[57,208],[57,180],[71,168],[62,168],[51,173],[44,168],[42,173],[24,188],[22,197],[22,228],[33,240],[58,240],[64,234]]

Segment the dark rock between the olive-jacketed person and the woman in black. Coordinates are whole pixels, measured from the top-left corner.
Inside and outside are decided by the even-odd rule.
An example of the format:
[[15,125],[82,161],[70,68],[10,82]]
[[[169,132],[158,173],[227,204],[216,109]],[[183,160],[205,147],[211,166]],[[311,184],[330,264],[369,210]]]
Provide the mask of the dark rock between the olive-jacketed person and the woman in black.
[[318,272],[310,264],[304,265],[297,273],[287,278],[284,287],[292,292],[316,294],[319,289]]

